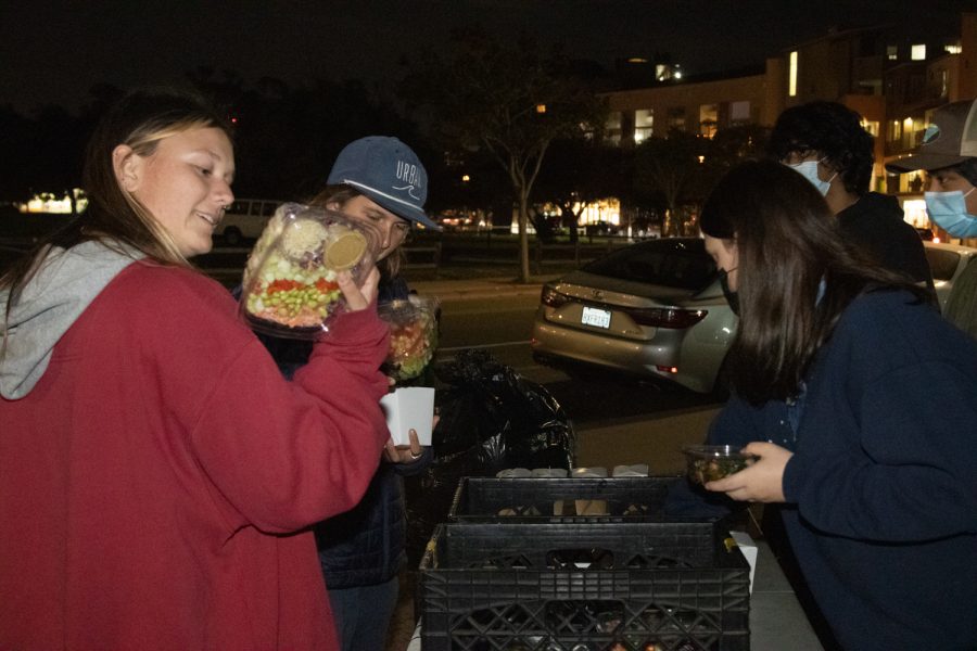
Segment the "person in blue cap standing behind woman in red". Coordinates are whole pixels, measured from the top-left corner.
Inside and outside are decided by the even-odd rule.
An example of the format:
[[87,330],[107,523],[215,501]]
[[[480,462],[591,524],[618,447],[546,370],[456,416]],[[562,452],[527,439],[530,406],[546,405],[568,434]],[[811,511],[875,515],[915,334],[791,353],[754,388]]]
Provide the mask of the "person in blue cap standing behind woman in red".
[[[402,250],[413,225],[440,227],[424,214],[428,175],[414,150],[392,137],[370,136],[347,144],[333,163],[326,188],[308,203],[370,225],[380,234],[381,304],[406,299],[399,275]],[[308,362],[312,344],[258,337],[291,376]],[[432,414],[433,417],[433,414]],[[408,432],[409,446],[389,443],[363,500],[314,527],[337,631],[344,651],[383,651],[397,602],[399,570],[406,562],[407,522],[403,477],[433,461]]]

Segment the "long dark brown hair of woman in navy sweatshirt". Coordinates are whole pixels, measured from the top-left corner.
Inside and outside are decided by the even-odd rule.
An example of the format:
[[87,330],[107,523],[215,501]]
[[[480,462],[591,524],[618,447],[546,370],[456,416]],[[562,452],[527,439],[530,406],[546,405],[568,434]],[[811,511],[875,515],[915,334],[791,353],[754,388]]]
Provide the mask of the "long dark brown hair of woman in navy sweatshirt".
[[754,405],[799,393],[814,355],[860,294],[905,290],[928,301],[909,277],[846,244],[824,197],[779,163],[749,161],[726,174],[702,207],[700,228],[738,250],[740,318],[726,370],[734,391]]

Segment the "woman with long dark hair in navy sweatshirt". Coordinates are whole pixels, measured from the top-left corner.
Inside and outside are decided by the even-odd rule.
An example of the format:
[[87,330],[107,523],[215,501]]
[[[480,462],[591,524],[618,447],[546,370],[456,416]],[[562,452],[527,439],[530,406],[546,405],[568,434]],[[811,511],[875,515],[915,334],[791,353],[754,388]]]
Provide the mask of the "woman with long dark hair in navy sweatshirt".
[[748,162],[701,213],[740,317],[711,443],[759,460],[707,488],[784,502],[846,649],[977,647],[977,344],[863,261],[817,191]]

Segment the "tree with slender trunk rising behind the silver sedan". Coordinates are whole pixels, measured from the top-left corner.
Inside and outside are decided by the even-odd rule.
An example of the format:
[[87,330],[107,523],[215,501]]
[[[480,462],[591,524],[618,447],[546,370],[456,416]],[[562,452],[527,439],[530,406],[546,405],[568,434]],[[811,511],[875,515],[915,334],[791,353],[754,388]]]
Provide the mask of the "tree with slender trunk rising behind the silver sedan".
[[428,110],[428,123],[447,149],[484,150],[506,170],[524,282],[531,194],[549,145],[601,127],[602,103],[570,74],[558,50],[544,55],[524,37],[503,47],[473,30],[456,34],[452,44],[447,54],[422,55],[402,95]]

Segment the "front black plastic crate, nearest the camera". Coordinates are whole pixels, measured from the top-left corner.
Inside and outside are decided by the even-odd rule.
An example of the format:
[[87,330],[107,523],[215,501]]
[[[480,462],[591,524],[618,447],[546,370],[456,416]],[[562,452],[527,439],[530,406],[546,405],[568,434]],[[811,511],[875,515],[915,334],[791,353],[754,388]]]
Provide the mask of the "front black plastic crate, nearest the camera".
[[750,570],[710,523],[441,524],[424,651],[747,651]]

